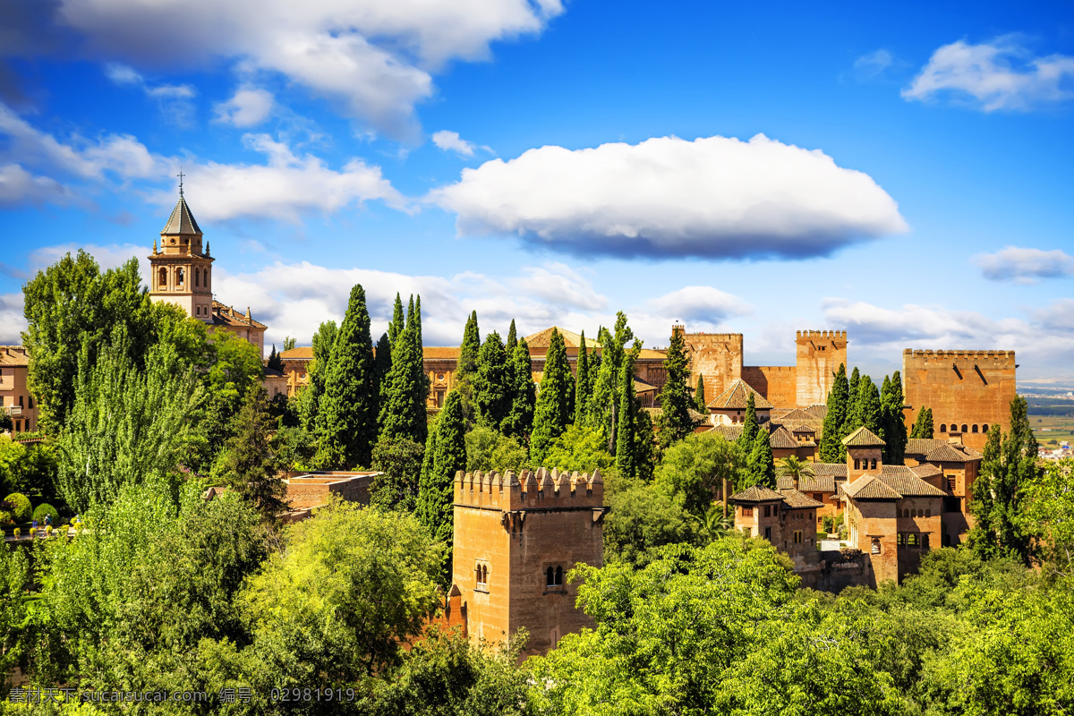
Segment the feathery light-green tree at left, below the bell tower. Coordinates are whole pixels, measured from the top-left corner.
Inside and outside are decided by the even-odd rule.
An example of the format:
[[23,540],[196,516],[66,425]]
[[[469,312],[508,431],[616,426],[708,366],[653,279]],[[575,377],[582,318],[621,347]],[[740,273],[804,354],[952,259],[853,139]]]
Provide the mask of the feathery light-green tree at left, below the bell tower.
[[57,488],[76,512],[113,502],[126,485],[153,483],[172,494],[176,464],[194,439],[191,417],[204,398],[173,346],[149,350],[146,369],[130,357],[126,327],[78,357],[75,403],[60,435]]

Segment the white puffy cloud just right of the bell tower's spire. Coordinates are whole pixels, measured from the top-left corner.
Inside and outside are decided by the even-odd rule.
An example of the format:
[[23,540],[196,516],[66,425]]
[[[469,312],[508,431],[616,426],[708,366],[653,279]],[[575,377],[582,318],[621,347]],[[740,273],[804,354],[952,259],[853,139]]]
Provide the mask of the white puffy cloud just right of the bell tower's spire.
[[[290,147],[266,134],[247,134],[244,141],[264,154],[266,163],[183,161],[187,194],[203,220],[256,217],[297,221],[307,211],[337,211],[372,200],[382,200],[396,209],[408,207],[407,199],[383,178],[380,167],[361,159],[333,170],[318,157],[294,156]],[[173,162],[177,166],[177,160]],[[156,192],[150,201],[170,206],[175,201],[174,191]]]

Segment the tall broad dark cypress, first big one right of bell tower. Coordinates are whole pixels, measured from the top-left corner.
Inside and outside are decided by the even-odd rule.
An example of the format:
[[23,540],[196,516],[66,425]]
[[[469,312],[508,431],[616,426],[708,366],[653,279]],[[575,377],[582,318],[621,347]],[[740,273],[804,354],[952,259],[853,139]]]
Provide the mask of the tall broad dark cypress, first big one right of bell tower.
[[320,401],[320,438],[326,464],[347,469],[368,465],[376,441],[373,341],[365,290],[354,284],[332,346]]

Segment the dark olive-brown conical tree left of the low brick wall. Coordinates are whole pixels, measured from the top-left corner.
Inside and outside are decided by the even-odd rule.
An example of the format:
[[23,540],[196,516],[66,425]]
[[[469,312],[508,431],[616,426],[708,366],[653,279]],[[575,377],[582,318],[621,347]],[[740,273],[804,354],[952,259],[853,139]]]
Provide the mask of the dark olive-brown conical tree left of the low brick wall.
[[270,443],[273,420],[264,389],[247,394],[235,422],[219,474],[263,520],[273,521],[287,509],[287,485],[276,474],[279,463]]

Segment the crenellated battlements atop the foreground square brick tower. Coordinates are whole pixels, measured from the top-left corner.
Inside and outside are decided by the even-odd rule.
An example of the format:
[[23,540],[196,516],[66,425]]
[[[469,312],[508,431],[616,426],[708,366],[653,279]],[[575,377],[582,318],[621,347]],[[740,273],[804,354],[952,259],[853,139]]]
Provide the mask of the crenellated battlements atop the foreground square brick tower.
[[483,510],[591,510],[604,507],[604,479],[599,470],[561,472],[557,468],[537,471],[513,470],[455,472],[454,501],[459,507]]

